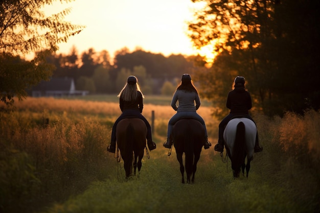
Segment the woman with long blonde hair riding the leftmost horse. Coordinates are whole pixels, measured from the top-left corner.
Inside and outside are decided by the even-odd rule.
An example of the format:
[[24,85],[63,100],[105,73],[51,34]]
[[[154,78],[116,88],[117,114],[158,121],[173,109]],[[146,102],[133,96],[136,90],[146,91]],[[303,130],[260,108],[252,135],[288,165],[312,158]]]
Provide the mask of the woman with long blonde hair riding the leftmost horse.
[[143,94],[138,84],[138,79],[135,76],[129,76],[126,85],[118,94],[120,109],[122,114],[118,117],[115,124],[112,127],[111,132],[111,144],[108,146],[107,151],[116,152],[116,127],[117,124],[126,117],[138,117],[143,120],[147,126],[147,144],[149,150],[156,148],[155,143],[152,141],[151,126],[147,119],[141,114],[143,109]]

